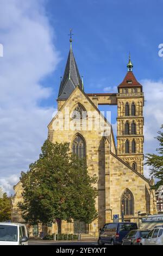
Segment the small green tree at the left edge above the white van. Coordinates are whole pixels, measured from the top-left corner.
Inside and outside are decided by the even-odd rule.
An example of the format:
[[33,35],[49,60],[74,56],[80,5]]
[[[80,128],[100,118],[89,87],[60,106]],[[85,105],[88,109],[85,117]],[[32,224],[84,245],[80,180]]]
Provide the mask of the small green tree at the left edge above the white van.
[[11,220],[11,198],[7,193],[3,193],[3,198],[0,198],[0,222]]

